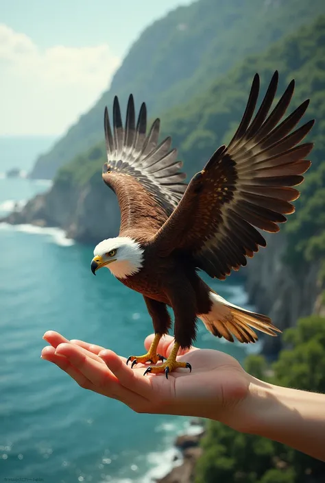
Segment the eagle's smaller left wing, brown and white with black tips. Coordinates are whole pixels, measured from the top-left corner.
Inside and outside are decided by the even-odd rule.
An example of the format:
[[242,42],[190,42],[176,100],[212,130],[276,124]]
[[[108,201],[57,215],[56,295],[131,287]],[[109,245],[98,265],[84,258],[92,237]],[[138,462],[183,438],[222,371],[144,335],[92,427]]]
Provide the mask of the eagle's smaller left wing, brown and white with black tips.
[[125,127],[119,100],[113,104],[113,132],[108,110],[104,128],[108,161],[103,166],[103,179],[115,191],[121,210],[120,233],[130,228],[145,227],[156,232],[176,208],[182,197],[186,177],[180,172],[177,150],[171,149],[171,138],[158,145],[160,120],[147,130],[147,109],[142,104],[136,123],[134,99],[130,95]]

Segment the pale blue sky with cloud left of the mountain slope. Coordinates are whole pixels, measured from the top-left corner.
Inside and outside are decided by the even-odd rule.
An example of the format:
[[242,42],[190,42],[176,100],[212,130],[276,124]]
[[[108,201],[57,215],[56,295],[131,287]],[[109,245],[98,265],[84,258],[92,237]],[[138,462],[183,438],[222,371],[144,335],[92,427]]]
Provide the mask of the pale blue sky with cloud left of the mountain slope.
[[0,136],[64,134],[153,21],[193,0],[0,0]]

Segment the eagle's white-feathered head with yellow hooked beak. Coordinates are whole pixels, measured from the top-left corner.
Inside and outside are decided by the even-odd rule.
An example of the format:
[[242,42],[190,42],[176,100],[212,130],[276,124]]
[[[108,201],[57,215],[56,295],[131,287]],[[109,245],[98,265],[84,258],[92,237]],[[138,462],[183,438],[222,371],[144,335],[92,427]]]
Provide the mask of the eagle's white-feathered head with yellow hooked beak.
[[128,236],[103,240],[95,247],[91,271],[96,275],[101,267],[110,269],[117,278],[134,275],[143,267],[143,248]]

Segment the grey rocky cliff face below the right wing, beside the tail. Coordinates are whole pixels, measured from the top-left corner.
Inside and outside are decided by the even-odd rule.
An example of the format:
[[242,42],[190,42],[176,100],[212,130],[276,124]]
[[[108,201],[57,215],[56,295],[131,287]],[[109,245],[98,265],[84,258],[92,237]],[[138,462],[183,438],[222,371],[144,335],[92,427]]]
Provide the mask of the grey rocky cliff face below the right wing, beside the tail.
[[[285,260],[287,242],[283,229],[265,238],[266,249],[260,249],[243,270],[245,286],[250,302],[285,330],[296,325],[300,317],[314,312],[322,292],[319,262],[291,267]],[[263,352],[277,354],[281,341],[280,337],[265,338]]]

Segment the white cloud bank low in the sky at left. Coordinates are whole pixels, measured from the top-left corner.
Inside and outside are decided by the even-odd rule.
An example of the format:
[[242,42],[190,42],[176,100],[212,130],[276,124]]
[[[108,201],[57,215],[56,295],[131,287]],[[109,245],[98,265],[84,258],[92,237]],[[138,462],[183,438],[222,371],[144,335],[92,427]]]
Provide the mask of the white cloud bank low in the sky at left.
[[0,135],[62,134],[91,108],[119,64],[107,44],[41,51],[0,24]]

